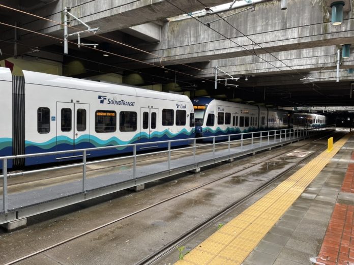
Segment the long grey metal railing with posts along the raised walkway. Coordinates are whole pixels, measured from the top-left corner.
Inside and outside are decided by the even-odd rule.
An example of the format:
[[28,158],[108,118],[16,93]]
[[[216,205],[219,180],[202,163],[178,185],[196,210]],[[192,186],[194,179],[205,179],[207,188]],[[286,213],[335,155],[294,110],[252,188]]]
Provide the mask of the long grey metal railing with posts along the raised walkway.
[[[17,156],[4,156],[0,157],[0,162],[2,161],[3,165],[3,174],[0,175],[0,178],[3,179],[3,209],[4,212],[8,212],[8,178],[20,175],[27,175],[27,174],[34,174],[46,171],[53,171],[58,169],[67,169],[67,168],[74,168],[74,167],[82,167],[82,190],[81,192],[87,192],[86,187],[86,170],[87,165],[97,164],[101,162],[109,162],[109,161],[117,161],[122,159],[133,159],[132,165],[132,177],[134,180],[137,179],[137,158],[140,156],[146,155],[157,155],[157,154],[164,154],[167,153],[167,170],[171,170],[171,152],[174,151],[183,151],[192,149],[193,155],[193,163],[197,164],[196,161],[196,151],[197,148],[206,148],[208,146],[212,147],[213,152],[213,159],[216,158],[216,149],[219,145],[228,145],[228,153],[231,154],[231,145],[241,148],[241,152],[244,151],[245,146],[249,146],[252,150],[256,144],[258,144],[258,148],[262,148],[262,146],[269,146],[270,144],[274,143],[283,143],[286,141],[290,141],[291,139],[301,139],[306,138],[318,131],[327,130],[333,127],[323,127],[323,128],[295,128],[295,129],[279,129],[279,130],[270,130],[270,131],[257,131],[257,132],[248,132],[248,133],[239,133],[239,134],[230,134],[230,135],[220,135],[220,136],[209,136],[209,137],[201,137],[201,138],[189,138],[189,139],[178,139],[178,140],[169,140],[169,141],[156,141],[156,142],[144,142],[144,143],[135,143],[135,144],[125,144],[125,145],[114,145],[114,146],[104,146],[100,148],[89,148],[89,149],[78,149],[78,150],[68,150],[68,151],[58,151],[58,152],[50,152],[50,153],[38,153],[38,154],[27,154],[27,155],[17,155]],[[222,139],[227,139],[227,141],[222,141]],[[183,148],[172,149],[171,144],[181,141],[190,141],[190,145],[185,146]],[[201,142],[199,145],[198,143]],[[209,143],[210,142],[210,143]],[[138,146],[141,145],[153,145],[153,144],[162,144],[167,143],[167,150],[160,150],[154,151],[151,153],[143,153],[137,154]],[[237,144],[239,143],[239,144]],[[119,148],[133,148],[132,155],[124,156],[124,157],[113,157],[108,159],[101,159],[95,161],[87,162],[87,152],[92,151],[102,151],[107,149],[116,149]],[[82,162],[74,163],[69,165],[63,166],[55,166],[50,168],[42,168],[36,170],[29,170],[23,172],[14,172],[8,173],[8,161],[11,159],[18,159],[18,158],[28,158],[28,157],[42,157],[42,156],[52,156],[52,155],[60,155],[60,154],[68,154],[68,153],[82,153]],[[79,156],[80,157],[80,156]]]

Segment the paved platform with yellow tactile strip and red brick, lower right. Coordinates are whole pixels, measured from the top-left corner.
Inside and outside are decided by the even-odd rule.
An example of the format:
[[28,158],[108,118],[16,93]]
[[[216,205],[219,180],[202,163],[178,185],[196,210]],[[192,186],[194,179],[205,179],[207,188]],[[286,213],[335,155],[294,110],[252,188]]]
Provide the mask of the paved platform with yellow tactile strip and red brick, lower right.
[[349,133],[175,264],[354,264],[353,143]]

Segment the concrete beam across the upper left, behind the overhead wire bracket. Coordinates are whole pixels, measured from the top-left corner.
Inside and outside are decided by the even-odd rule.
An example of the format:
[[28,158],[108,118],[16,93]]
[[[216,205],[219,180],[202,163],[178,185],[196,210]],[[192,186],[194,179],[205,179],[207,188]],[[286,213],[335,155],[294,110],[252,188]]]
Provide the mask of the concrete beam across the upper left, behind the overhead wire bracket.
[[[36,11],[36,15],[46,17],[50,20],[63,23],[63,10],[67,5],[72,5],[70,12],[81,19],[92,28],[100,27],[102,33],[122,30],[124,28],[132,27],[153,21],[164,20],[168,17],[173,17],[183,14],[183,11],[176,9],[165,0],[140,0],[130,3],[131,1],[125,0],[112,0],[112,1],[68,1],[59,0],[53,4],[48,5],[45,9],[39,9]],[[228,3],[229,0],[204,0],[203,4],[206,6],[216,6],[219,4]],[[127,3],[127,4],[126,4]],[[128,4],[130,3],[130,4]],[[178,5],[186,12],[192,12],[201,10],[204,5],[200,4],[196,0],[174,0],[173,3]],[[126,4],[126,5],[125,5]],[[18,6],[13,6],[19,8]],[[5,9],[6,10],[6,9]],[[40,32],[42,34],[48,34],[57,38],[63,39],[64,31],[63,26],[55,22],[49,22],[42,19],[37,19],[31,16],[24,16],[21,13],[14,13],[14,20],[18,21],[21,27],[24,27],[31,31]],[[11,24],[11,22],[10,22]],[[86,28],[80,24],[77,20],[72,20],[71,26],[80,28],[80,30],[86,30]],[[2,39],[7,41],[13,41],[12,27],[7,28],[10,31],[6,31]],[[76,32],[76,30],[69,29],[69,34]],[[81,38],[92,36],[92,34],[83,33]],[[50,44],[57,44],[58,40],[48,37],[39,36],[33,33],[19,31],[19,39],[21,42],[27,45],[34,45],[37,47],[43,47]],[[72,37],[76,39],[76,37]],[[11,45],[8,45],[11,47]],[[2,47],[3,53],[6,47]],[[21,54],[25,47],[18,47],[18,52]]]

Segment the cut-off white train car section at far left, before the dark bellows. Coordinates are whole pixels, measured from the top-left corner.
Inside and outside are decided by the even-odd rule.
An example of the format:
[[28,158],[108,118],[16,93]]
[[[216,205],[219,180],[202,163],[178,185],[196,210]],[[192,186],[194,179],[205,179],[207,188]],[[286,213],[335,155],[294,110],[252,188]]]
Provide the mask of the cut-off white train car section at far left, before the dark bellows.
[[[12,156],[12,75],[8,68],[0,68],[0,156]],[[12,161],[9,161],[12,166]],[[0,168],[3,163],[0,163]]]

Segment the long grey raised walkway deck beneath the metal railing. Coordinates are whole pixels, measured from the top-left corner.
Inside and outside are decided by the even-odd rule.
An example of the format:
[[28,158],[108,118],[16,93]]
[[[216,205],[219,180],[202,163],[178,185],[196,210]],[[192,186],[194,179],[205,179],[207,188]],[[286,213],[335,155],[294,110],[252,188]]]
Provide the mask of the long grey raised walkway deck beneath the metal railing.
[[[333,128],[329,128],[333,129]],[[65,183],[56,183],[42,188],[32,188],[23,192],[9,193],[7,203],[3,203],[3,196],[0,199],[0,224],[17,221],[29,216],[37,215],[43,212],[62,208],[67,205],[78,203],[87,199],[96,198],[112,192],[128,189],[148,183],[151,181],[166,178],[171,175],[179,174],[191,170],[199,170],[201,167],[232,160],[248,154],[253,154],[262,150],[270,150],[276,146],[299,141],[310,137],[316,131],[322,131],[323,128],[315,130],[278,130],[273,135],[262,136],[255,133],[254,138],[242,138],[229,142],[215,142],[208,145],[209,150],[196,154],[198,146],[195,144],[183,149],[170,150],[170,152],[179,152],[187,150],[190,152],[178,158],[171,159],[169,155],[164,161],[150,164],[128,167],[119,172],[103,173],[101,175],[91,175],[83,180],[74,179]],[[290,133],[291,131],[291,133]],[[253,136],[253,133],[249,135]],[[256,137],[256,135],[258,135]],[[234,144],[238,143],[238,144]],[[224,149],[218,149],[217,146],[224,145]],[[191,151],[193,150],[194,151]],[[166,152],[166,151],[165,151]],[[168,152],[166,152],[168,154]],[[130,156],[132,158],[132,156]],[[133,158],[132,158],[133,159]],[[92,163],[92,162],[91,162]],[[65,166],[67,167],[67,166]],[[4,204],[7,209],[4,210]]]

